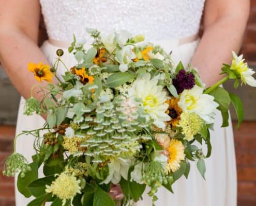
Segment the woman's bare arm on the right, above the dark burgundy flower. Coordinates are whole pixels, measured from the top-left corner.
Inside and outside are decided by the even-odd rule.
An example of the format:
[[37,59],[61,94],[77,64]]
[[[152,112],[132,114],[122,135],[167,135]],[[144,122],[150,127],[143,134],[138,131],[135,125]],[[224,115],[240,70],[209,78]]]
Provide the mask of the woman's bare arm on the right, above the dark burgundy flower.
[[206,86],[222,78],[222,63],[230,63],[232,50],[239,51],[249,9],[249,0],[206,0],[204,33],[192,58]]

